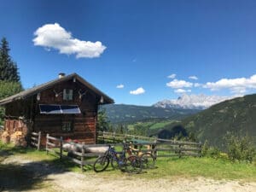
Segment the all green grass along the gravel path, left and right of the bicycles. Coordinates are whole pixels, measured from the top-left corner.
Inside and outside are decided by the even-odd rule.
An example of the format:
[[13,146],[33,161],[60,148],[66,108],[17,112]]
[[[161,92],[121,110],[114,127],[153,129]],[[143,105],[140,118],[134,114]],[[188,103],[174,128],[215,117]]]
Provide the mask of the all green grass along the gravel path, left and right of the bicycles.
[[[28,158],[35,161],[44,161],[45,163],[65,170],[65,172],[81,172],[78,165],[68,160],[59,160],[58,156],[46,154],[45,151],[37,151],[33,148],[14,148],[12,145],[3,145],[0,143],[0,154],[17,155],[23,158]],[[3,158],[4,158],[3,155]],[[4,170],[4,175],[11,177],[26,177],[27,172],[22,172],[22,167],[16,166],[11,169],[11,166],[1,164],[0,172]],[[2,171],[1,171],[2,170]],[[17,172],[19,174],[17,174]],[[64,172],[64,171],[63,171]],[[3,173],[3,172],[2,172]],[[95,173],[92,166],[84,166],[85,175],[97,174],[101,177],[121,177],[125,173],[119,170],[113,170],[111,166],[106,172]],[[0,177],[2,177],[0,175]],[[213,179],[227,179],[227,180],[242,180],[256,182],[256,162],[253,164],[247,163],[232,163],[229,160],[212,159],[212,158],[194,158],[194,157],[177,157],[173,158],[158,158],[156,161],[156,168],[152,170],[145,170],[142,174],[133,175],[132,177],[156,179],[156,178],[178,178],[178,177],[207,177]],[[3,180],[3,179],[2,179]],[[22,179],[20,182],[23,181]],[[38,185],[38,180],[35,181]],[[22,183],[22,182],[21,182]]]

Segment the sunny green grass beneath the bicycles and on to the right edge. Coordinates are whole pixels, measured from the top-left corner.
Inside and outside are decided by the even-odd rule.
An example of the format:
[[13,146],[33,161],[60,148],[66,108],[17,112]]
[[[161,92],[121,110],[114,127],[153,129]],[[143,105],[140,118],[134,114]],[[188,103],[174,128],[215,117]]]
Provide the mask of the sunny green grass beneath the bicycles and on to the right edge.
[[[107,171],[98,174],[101,174],[102,177],[120,177],[123,175],[119,171],[113,171],[111,167]],[[256,182],[256,166],[212,158],[160,158],[156,161],[155,169],[145,170],[142,174],[133,177],[145,179],[207,177],[216,180]]]

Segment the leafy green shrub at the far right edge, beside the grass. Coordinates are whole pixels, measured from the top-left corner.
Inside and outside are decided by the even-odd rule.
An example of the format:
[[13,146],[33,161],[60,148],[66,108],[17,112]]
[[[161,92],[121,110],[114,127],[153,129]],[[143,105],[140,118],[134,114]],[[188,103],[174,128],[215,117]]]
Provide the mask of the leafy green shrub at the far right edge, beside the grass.
[[231,161],[247,161],[252,163],[255,156],[255,148],[250,137],[238,137],[230,132],[225,137],[227,144],[227,153]]

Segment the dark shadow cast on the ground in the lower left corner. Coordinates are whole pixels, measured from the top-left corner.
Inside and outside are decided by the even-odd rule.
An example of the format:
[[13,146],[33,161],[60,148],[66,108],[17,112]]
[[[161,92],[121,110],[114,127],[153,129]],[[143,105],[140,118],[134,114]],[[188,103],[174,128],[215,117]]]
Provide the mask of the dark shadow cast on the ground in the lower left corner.
[[47,176],[69,172],[76,166],[58,158],[38,161],[16,159],[15,154],[33,151],[33,148],[0,148],[0,191],[42,189],[47,187]]

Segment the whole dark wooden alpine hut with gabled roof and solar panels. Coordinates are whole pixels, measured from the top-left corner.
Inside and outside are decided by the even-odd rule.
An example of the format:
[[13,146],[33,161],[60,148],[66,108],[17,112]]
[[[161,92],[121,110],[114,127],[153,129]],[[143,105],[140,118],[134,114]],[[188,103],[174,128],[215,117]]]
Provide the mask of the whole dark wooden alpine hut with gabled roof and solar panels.
[[96,143],[98,106],[113,99],[77,73],[21,91],[0,101],[5,108],[4,131],[11,136],[20,131],[24,138],[41,131],[42,144],[53,137]]

